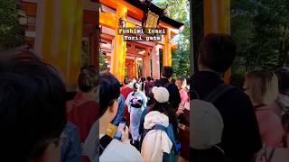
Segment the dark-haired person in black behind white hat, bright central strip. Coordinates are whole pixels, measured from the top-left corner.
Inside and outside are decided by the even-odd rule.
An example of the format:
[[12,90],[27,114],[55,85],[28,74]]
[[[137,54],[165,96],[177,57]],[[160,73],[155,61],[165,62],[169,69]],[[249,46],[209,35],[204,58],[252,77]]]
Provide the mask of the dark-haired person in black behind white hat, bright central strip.
[[174,110],[177,110],[181,103],[181,95],[178,86],[171,83],[172,72],[172,67],[163,67],[162,78],[158,80],[156,85],[163,86],[169,91],[169,103],[171,103]]

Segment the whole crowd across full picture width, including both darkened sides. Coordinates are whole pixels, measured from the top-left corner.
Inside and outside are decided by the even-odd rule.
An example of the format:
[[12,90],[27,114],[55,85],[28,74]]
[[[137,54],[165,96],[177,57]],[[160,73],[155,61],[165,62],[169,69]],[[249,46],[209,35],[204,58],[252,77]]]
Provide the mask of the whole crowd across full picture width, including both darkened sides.
[[[226,34],[201,41],[199,72],[125,77],[83,67],[69,97],[31,50],[0,62],[0,161],[249,162],[289,158],[289,67],[222,76],[236,58]],[[243,90],[242,90],[243,89]],[[190,108],[191,107],[191,108]],[[274,159],[274,160],[273,160]]]

